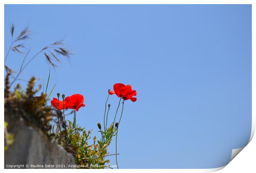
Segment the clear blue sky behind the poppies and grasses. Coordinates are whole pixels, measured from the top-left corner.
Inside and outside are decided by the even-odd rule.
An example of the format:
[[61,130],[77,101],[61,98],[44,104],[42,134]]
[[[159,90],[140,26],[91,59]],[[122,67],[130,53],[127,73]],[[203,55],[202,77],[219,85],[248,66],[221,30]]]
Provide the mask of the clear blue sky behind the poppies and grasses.
[[[249,141],[251,5],[5,5],[5,54],[12,22],[14,35],[33,30],[29,57],[65,37],[73,56],[51,70],[51,98],[82,94],[77,122],[98,138],[107,90],[137,90],[119,128],[119,168],[216,168]],[[23,57],[11,52],[6,65],[18,71]],[[32,75],[47,79],[43,54],[20,78]],[[111,121],[118,101],[110,96]]]

